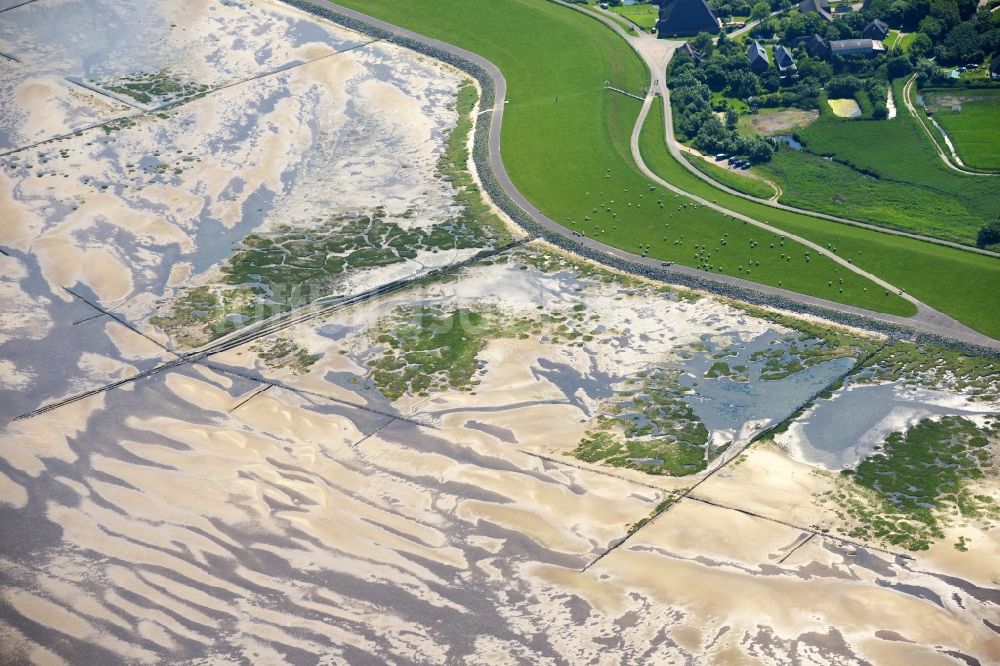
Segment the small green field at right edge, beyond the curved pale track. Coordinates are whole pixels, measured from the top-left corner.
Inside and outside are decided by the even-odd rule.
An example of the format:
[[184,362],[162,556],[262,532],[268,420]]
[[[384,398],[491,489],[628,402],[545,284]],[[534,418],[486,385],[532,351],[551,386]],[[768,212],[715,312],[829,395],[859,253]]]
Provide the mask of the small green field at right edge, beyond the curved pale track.
[[962,161],[976,169],[1000,169],[1000,89],[963,91],[955,100],[962,110],[953,112],[952,91],[925,92]]

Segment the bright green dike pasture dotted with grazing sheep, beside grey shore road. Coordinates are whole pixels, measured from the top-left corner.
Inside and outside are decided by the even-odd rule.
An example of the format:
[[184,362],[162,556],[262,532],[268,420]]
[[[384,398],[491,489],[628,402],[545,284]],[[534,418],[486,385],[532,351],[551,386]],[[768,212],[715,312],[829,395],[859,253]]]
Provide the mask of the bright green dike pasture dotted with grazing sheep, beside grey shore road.
[[[565,226],[637,254],[880,312],[914,314],[907,301],[797,243],[653,187],[629,147],[642,103],[604,87],[608,81],[641,94],[646,69],[599,21],[546,0],[342,4],[499,66],[509,99],[504,164],[518,189]],[[706,198],[720,194],[709,190]]]

